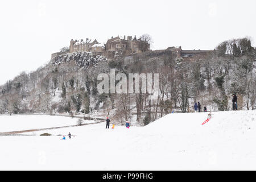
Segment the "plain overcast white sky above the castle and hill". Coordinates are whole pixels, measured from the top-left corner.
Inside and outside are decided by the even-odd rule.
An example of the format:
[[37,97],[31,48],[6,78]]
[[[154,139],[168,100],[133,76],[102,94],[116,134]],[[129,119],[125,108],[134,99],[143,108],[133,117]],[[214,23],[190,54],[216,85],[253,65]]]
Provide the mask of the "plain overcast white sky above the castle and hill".
[[255,47],[255,0],[1,1],[0,84],[35,71],[73,39],[150,34],[152,49],[214,49],[250,36]]

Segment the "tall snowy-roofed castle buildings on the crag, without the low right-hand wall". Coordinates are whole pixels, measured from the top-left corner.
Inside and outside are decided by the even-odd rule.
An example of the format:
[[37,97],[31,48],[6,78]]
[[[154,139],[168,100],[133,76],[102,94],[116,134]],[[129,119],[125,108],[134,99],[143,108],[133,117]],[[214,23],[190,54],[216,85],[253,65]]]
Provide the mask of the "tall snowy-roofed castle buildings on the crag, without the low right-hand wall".
[[106,44],[99,43],[96,39],[91,42],[88,38],[84,41],[83,39],[73,40],[71,39],[69,44],[69,51],[56,52],[52,54],[52,58],[59,56],[64,53],[73,52],[92,52],[93,55],[104,55],[106,57],[113,57],[115,51],[122,51],[128,55],[130,53],[140,53],[150,49],[150,44],[140,38],[137,39],[132,36],[117,36],[115,38],[108,39]]

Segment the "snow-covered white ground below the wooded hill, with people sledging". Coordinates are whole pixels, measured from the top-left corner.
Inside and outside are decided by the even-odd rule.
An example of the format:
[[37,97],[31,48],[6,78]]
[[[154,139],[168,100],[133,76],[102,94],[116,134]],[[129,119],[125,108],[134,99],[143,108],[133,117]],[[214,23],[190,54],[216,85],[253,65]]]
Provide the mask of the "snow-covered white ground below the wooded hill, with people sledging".
[[[207,114],[168,114],[145,127],[130,129],[105,129],[105,123],[99,123],[36,131],[27,137],[0,137],[0,169],[256,170],[256,111],[214,112],[212,119],[201,125]],[[62,121],[55,116],[43,124],[42,117],[28,115],[14,121],[5,116],[0,131],[11,129],[5,126],[8,122],[19,122],[13,130],[23,130],[31,128],[30,120],[38,122],[38,127]],[[68,120],[73,122],[67,118],[67,124]],[[76,136],[67,140],[39,136],[46,132]]]

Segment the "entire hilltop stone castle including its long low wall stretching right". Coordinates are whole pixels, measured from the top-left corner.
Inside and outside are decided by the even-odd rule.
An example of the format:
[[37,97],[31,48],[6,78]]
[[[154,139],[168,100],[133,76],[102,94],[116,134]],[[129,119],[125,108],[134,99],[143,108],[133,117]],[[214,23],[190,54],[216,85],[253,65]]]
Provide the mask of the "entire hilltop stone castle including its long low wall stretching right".
[[[71,39],[69,43],[69,48],[66,47],[64,51],[56,52],[52,54],[52,58],[65,54],[65,53],[74,53],[74,52],[92,52],[93,55],[104,55],[108,59],[111,59],[115,56],[116,51],[121,51],[123,56],[134,55],[134,53],[143,53],[148,52],[150,49],[150,44],[141,38],[137,39],[136,36],[134,38],[132,36],[117,36],[115,38],[108,39],[106,44],[99,43],[96,39],[89,40],[86,38],[84,41],[83,39],[73,40]],[[183,50],[180,47],[168,47],[166,50],[171,50],[177,52],[177,55],[183,57],[183,59],[190,60],[193,57],[198,55],[207,55],[208,53],[212,53],[213,51],[210,50]],[[152,53],[155,52],[165,52],[165,50],[156,50],[151,51]]]

